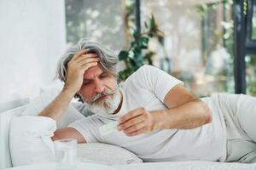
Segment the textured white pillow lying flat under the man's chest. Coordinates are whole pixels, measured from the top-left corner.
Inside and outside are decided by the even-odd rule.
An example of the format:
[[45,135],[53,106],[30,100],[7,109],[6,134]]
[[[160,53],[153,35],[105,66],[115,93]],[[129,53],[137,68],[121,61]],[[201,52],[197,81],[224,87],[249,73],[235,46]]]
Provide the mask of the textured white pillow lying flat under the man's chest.
[[108,165],[143,163],[143,161],[131,151],[113,144],[79,144],[78,157],[79,161]]

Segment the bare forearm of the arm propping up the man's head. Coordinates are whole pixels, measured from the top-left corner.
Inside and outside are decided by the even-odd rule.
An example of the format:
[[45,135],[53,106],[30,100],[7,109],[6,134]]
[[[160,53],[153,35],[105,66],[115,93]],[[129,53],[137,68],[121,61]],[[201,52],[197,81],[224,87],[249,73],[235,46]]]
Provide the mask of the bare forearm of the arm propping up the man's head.
[[60,119],[67,106],[73,99],[74,93],[63,88],[61,93],[39,114],[39,116],[48,116],[56,122]]

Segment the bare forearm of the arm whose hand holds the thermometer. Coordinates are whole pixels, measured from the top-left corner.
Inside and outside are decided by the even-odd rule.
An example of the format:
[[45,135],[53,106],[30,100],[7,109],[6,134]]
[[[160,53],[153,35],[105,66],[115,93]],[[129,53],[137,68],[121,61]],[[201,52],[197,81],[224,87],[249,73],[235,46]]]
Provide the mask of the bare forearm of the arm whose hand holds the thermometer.
[[153,111],[154,129],[191,129],[212,122],[212,113],[197,99],[172,109]]

